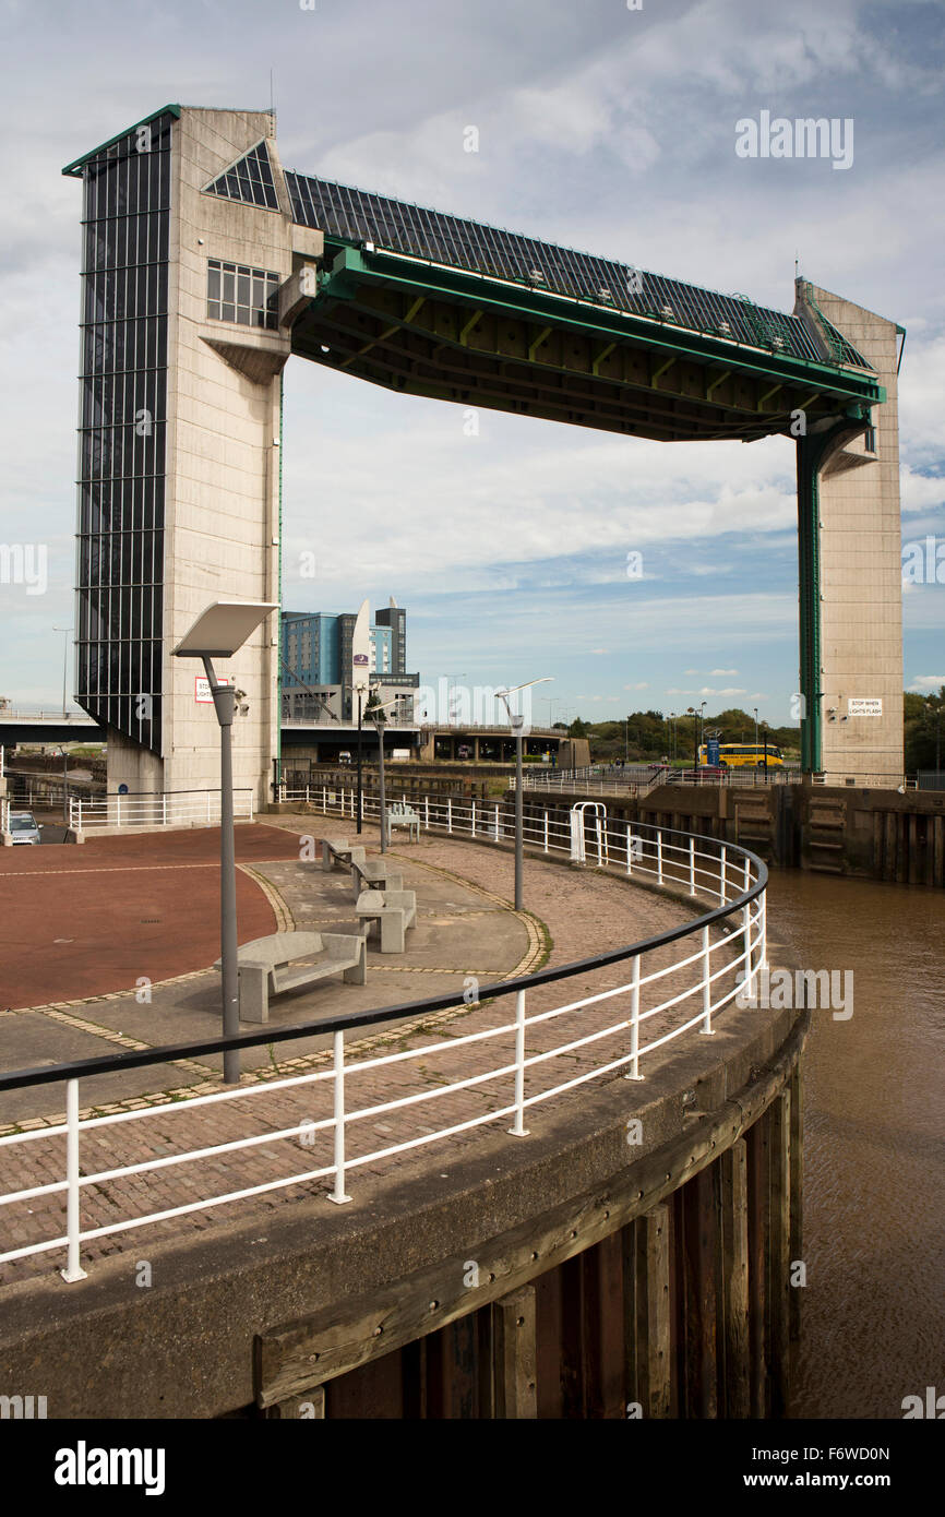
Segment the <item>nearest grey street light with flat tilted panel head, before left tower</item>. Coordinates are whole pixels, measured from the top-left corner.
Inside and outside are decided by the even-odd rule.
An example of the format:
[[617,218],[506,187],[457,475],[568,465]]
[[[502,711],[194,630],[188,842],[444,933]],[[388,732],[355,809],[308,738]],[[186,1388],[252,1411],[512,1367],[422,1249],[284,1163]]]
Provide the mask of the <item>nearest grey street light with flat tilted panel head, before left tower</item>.
[[[234,704],[235,687],[220,684],[214,674],[214,658],[232,658],[246,639],[279,607],[272,601],[214,601],[171,654],[176,658],[200,658],[206,674],[214,710],[220,724],[220,969],[223,1001],[223,1036],[240,1032],[240,960],[237,939],[237,851],[234,837]],[[223,1080],[240,1083],[240,1054],[223,1050]]]

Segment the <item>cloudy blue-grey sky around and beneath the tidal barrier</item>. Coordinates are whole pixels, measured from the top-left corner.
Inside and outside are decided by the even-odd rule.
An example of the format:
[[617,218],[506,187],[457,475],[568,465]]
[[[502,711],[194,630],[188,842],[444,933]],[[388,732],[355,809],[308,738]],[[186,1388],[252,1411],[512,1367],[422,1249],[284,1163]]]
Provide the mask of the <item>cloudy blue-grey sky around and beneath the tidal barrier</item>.
[[[0,0],[0,546],[36,545],[46,558],[46,584],[36,572],[32,586],[12,570],[0,579],[0,696],[61,704],[73,623],[80,187],[61,168],[167,102],[265,109],[270,88],[287,168],[786,311],[796,258],[815,284],[901,323],[903,542],[922,545],[925,579],[939,545],[943,560],[943,583],[913,572],[904,587],[906,686],[937,689],[942,11]],[[852,161],[739,156],[736,123],[761,111],[852,121]],[[710,713],[757,705],[789,721],[787,438],[664,444],[487,410],[470,420],[290,360],[282,458],[284,607],[343,611],[393,595],[425,684],[551,677],[534,716],[554,721],[704,699]]]

